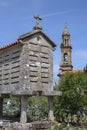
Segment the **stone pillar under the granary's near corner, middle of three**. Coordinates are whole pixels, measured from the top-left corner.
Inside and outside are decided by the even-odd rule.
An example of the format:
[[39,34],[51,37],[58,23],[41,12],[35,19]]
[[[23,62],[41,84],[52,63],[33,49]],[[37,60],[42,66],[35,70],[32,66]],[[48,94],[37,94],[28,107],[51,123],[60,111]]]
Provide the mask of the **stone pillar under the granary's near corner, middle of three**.
[[21,117],[20,117],[21,123],[27,122],[27,114],[26,114],[26,112],[27,112],[27,101],[28,101],[27,96],[21,97]]

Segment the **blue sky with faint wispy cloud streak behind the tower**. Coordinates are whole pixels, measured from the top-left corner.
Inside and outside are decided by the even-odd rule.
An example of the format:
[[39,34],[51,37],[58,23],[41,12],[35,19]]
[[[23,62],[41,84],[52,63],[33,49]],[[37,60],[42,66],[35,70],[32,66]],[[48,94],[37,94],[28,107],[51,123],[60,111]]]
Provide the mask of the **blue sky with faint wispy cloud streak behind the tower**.
[[0,47],[31,32],[36,14],[42,17],[43,32],[57,45],[53,52],[54,81],[58,79],[66,22],[73,48],[73,69],[83,69],[87,64],[87,0],[0,0]]

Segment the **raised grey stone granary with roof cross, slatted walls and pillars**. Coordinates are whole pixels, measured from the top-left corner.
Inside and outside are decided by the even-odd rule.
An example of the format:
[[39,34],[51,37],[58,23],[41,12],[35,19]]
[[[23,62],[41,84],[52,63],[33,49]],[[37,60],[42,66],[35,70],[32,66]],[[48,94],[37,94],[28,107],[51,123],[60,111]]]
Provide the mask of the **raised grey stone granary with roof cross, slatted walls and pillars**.
[[21,35],[16,42],[0,48],[0,118],[3,98],[13,95],[21,100],[20,122],[26,123],[27,100],[33,95],[48,97],[49,117],[53,116],[53,54],[55,43],[43,32],[41,18],[35,16],[36,26]]

